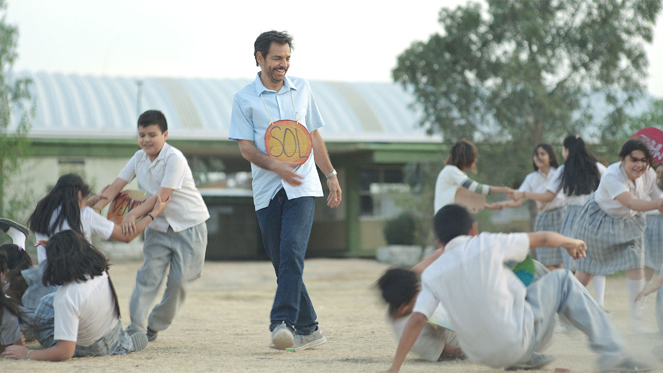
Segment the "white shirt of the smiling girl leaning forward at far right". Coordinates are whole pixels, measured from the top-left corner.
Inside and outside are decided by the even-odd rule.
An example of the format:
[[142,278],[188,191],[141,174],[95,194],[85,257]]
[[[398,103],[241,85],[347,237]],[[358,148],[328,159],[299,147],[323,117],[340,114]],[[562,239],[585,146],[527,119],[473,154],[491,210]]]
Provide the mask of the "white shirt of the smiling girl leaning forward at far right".
[[630,191],[637,199],[661,199],[663,192],[656,186],[656,172],[652,168],[647,168],[644,175],[637,178],[634,182],[629,179],[621,162],[615,162],[608,166],[601,177],[601,183],[594,195],[597,205],[605,213],[613,217],[634,217],[638,211],[634,211],[622,205],[615,197]]

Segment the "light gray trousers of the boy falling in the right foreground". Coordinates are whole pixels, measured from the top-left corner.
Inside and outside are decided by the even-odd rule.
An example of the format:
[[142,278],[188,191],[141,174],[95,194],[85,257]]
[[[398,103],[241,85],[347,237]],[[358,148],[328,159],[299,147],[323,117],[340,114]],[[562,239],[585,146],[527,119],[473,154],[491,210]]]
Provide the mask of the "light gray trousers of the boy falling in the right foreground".
[[[550,343],[555,314],[559,313],[589,337],[589,347],[599,354],[601,368],[618,364],[626,357],[617,329],[569,270],[554,270],[532,282],[525,299],[534,313],[534,341],[530,352],[543,350]],[[524,361],[530,358],[528,354]]]

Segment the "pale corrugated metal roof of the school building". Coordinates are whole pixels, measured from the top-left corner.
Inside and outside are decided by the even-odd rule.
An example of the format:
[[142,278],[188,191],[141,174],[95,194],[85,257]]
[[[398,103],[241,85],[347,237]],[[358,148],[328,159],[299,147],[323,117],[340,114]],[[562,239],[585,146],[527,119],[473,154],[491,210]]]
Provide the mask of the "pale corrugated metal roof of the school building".
[[[36,116],[30,136],[133,138],[139,79],[64,74],[31,78]],[[235,92],[251,80],[144,78],[141,111],[158,109],[170,136],[227,140]],[[325,120],[326,140],[338,142],[438,142],[418,125],[414,97],[394,83],[311,81]]]

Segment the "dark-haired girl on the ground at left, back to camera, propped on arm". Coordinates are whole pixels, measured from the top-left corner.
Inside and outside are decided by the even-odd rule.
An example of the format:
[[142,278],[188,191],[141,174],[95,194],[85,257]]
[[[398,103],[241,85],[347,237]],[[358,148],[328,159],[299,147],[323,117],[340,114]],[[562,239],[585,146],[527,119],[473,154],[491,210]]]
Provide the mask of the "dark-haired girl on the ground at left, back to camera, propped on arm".
[[44,349],[9,346],[5,358],[62,361],[147,346],[147,335],[129,337],[122,329],[108,261],[85,237],[70,229],[56,233],[46,244],[46,256],[43,281],[58,290],[42,297],[35,312],[35,337]]

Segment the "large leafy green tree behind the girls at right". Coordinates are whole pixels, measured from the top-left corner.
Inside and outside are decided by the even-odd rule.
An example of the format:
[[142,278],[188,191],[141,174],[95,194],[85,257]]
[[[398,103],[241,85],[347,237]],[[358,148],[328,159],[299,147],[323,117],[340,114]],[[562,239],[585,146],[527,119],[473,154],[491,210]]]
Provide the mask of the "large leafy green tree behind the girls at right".
[[[644,90],[644,44],[660,7],[660,0],[540,0],[443,8],[444,34],[414,42],[393,78],[414,93],[430,133],[483,143],[483,178],[517,186],[539,142],[621,133],[625,110]],[[597,101],[605,112],[593,111]]]

